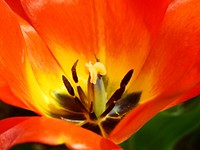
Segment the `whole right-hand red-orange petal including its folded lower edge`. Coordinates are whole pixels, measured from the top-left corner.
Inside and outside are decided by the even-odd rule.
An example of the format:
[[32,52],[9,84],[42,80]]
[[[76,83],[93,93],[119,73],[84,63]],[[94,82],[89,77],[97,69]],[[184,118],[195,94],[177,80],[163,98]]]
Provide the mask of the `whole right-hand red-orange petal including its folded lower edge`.
[[200,94],[200,19],[197,19],[200,3],[193,0],[173,4],[137,80],[143,83],[141,103],[145,103],[132,110],[111,133],[111,139],[116,142],[127,139],[166,106]]

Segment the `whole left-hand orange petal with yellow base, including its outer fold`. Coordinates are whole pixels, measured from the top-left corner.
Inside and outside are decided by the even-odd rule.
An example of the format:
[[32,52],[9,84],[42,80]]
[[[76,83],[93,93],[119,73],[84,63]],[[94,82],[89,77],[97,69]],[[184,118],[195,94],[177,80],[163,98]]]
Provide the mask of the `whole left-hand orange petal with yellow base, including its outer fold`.
[[[9,14],[9,17],[2,15],[0,18],[3,29],[0,67],[9,86],[5,88],[15,95],[15,100],[20,99],[32,111],[47,113],[50,105],[58,105],[51,94],[64,88],[61,78],[64,73],[36,31],[5,3],[1,2],[1,5],[2,14]],[[1,96],[9,104],[18,104],[9,99],[12,97]]]

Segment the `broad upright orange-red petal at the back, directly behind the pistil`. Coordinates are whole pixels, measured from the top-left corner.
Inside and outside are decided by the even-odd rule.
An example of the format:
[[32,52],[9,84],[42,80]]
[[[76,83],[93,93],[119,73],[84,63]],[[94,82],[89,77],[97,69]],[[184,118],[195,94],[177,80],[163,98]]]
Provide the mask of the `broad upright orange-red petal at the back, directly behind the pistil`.
[[168,0],[21,1],[62,68],[71,67],[76,59],[81,60],[83,68],[85,61],[95,61],[96,55],[106,64],[113,80],[110,82],[120,82],[132,68],[139,72],[169,3]]

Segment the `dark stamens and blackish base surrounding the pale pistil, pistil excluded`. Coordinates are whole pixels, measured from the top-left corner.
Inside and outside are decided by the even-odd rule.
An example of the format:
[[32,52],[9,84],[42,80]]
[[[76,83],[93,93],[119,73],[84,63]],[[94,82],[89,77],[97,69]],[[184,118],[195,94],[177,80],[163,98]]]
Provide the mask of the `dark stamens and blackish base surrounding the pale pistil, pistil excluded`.
[[[60,114],[52,114],[52,116],[76,123],[83,128],[107,137],[107,135],[114,129],[120,120],[138,105],[140,100],[142,92],[128,94],[125,92],[126,86],[132,77],[133,69],[126,73],[119,85],[119,88],[107,100],[105,111],[99,117],[97,117],[93,110],[93,99],[91,94],[86,95],[81,86],[78,85],[78,76],[76,73],[77,62],[78,61],[74,63],[71,71],[73,80],[77,84],[76,91],[78,96],[75,95],[75,90],[69,80],[63,75],[62,81],[69,95],[59,93],[54,94],[57,97],[60,105],[65,110]],[[99,75],[98,78],[102,78],[102,76]],[[94,88],[89,80],[90,76],[88,77],[88,93],[93,93]],[[106,81],[104,84],[105,83]]]

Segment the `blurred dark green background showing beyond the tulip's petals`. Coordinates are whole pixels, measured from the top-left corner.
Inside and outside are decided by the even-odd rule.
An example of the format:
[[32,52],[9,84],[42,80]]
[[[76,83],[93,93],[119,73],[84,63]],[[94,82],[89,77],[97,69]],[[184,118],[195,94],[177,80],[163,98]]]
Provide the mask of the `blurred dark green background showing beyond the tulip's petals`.
[[[35,115],[0,102],[0,119],[24,114]],[[120,146],[125,150],[200,150],[200,96],[159,113]],[[66,149],[64,145],[28,143],[11,150]]]

